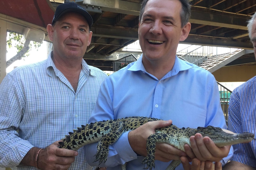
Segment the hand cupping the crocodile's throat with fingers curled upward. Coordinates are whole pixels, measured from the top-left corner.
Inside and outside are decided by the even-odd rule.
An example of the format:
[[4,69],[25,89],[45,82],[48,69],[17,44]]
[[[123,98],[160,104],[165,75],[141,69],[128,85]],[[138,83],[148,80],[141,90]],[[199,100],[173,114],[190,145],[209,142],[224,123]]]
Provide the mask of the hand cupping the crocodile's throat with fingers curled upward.
[[200,133],[190,137],[190,144],[184,145],[185,152],[190,158],[198,158],[200,161],[219,162],[225,158],[231,145],[217,147],[209,137],[203,137]]

